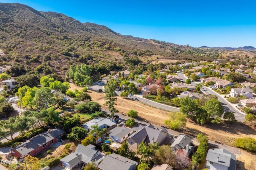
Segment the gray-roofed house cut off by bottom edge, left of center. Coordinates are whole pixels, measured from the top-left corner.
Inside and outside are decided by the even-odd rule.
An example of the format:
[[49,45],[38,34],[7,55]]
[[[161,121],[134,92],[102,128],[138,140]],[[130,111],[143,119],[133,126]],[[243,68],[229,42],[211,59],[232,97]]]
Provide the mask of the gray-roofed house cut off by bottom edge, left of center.
[[134,160],[113,153],[107,155],[98,168],[100,170],[136,170],[137,164],[138,162]]

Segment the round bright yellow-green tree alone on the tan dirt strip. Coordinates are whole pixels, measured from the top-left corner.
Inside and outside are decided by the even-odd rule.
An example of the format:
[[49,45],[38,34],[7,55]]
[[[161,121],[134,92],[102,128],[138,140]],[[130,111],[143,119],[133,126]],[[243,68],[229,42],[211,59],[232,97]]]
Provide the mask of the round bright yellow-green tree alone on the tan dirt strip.
[[186,115],[184,113],[169,113],[169,119],[164,121],[164,124],[169,126],[172,130],[178,130],[186,125]]

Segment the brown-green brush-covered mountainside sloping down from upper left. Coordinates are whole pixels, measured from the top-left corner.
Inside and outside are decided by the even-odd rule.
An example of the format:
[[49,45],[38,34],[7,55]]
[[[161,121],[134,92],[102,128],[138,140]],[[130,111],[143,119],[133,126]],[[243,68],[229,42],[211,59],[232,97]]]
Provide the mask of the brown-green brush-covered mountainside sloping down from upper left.
[[79,63],[110,71],[163,58],[181,61],[196,56],[198,61],[205,57],[210,61],[220,55],[217,48],[121,35],[104,25],[18,3],[0,3],[0,50],[0,65],[20,65],[38,73],[65,72]]

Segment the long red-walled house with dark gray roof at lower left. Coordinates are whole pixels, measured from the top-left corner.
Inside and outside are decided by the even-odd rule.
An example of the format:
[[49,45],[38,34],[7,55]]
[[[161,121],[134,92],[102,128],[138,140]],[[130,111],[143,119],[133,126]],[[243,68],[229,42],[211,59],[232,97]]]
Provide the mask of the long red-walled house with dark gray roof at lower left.
[[64,131],[61,129],[50,129],[23,142],[21,145],[10,149],[12,156],[24,159],[26,156],[34,156],[50,145],[60,141]]

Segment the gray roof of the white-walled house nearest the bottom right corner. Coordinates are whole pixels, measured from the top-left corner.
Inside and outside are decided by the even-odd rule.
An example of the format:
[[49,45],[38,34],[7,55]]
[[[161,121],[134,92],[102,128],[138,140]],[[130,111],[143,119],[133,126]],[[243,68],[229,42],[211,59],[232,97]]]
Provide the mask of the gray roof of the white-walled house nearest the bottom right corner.
[[228,170],[236,169],[236,155],[226,149],[209,149],[206,160],[227,166]]

